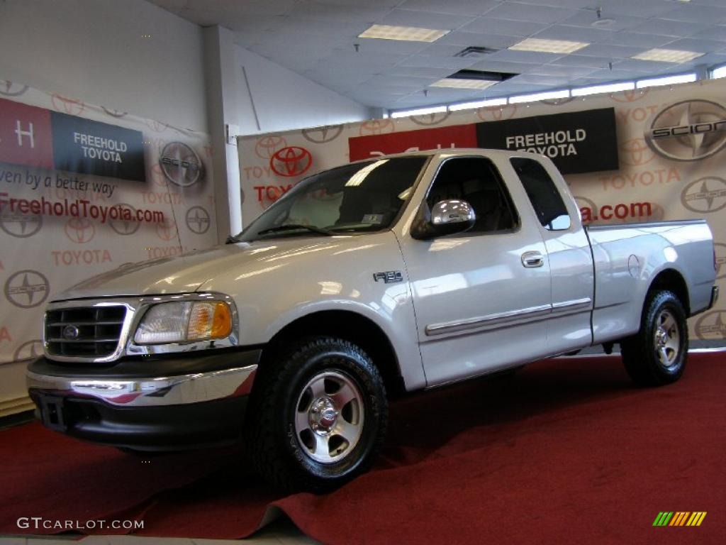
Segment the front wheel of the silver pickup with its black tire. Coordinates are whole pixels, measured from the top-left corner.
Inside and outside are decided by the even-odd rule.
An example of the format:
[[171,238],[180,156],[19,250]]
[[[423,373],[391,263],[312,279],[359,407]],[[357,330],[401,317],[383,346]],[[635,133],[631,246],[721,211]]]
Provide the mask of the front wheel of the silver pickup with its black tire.
[[301,339],[261,365],[245,449],[253,469],[277,488],[328,491],[370,467],[387,421],[383,379],[360,347],[335,337]]

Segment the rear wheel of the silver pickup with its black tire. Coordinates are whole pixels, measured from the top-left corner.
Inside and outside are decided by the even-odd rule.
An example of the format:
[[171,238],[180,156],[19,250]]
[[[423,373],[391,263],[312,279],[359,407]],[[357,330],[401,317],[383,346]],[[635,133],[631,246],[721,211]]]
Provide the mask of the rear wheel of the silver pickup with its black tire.
[[640,331],[621,342],[630,378],[640,386],[662,386],[680,379],[688,360],[688,326],[683,305],[672,291],[645,298]]

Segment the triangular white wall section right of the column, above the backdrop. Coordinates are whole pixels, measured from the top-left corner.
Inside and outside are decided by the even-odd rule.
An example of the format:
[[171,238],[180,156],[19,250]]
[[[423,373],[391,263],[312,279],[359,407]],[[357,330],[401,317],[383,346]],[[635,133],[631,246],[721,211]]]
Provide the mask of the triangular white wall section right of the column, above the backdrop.
[[237,47],[237,64],[240,134],[303,129],[372,117],[367,106],[242,47]]

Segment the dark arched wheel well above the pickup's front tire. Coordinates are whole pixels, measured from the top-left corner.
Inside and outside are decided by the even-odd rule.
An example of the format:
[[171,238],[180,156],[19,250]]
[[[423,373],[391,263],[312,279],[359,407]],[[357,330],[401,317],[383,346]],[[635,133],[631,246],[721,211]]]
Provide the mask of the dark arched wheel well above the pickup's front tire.
[[266,358],[279,355],[295,339],[319,335],[340,337],[361,347],[380,371],[388,397],[396,397],[405,391],[398,358],[388,336],[372,320],[347,310],[313,312],[287,324],[266,344],[261,365],[264,366]]

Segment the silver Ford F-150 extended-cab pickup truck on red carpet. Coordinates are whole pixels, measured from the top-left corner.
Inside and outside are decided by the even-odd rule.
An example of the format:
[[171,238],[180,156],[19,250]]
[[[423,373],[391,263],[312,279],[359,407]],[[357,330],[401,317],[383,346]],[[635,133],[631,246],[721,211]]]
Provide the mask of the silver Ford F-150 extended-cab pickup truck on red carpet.
[[298,183],[226,245],[57,296],[28,367],[38,417],[129,451],[243,441],[274,485],[370,466],[388,396],[603,344],[680,378],[717,298],[706,222],[583,227],[547,158],[387,156]]

